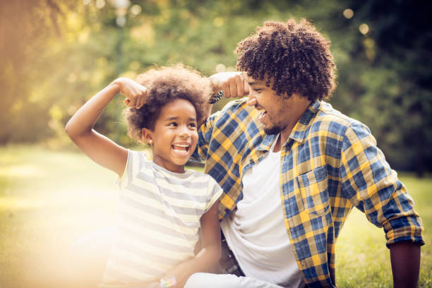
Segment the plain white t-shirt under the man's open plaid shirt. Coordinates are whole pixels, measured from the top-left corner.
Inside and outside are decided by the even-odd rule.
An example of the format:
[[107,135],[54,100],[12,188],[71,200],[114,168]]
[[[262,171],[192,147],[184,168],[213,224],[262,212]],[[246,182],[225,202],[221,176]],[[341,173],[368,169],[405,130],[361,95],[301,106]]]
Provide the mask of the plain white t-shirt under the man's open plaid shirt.
[[222,232],[246,276],[282,287],[304,287],[284,224],[275,143],[265,159],[244,174],[243,198],[221,222]]

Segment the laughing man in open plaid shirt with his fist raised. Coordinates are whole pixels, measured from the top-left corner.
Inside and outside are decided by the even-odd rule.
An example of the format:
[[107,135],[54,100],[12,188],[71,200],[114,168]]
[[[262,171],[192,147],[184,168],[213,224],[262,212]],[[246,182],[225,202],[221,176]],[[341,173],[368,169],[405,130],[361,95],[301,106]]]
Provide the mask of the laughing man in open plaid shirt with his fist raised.
[[335,88],[330,42],[290,19],[264,23],[236,53],[244,73],[212,83],[248,98],[205,121],[196,151],[224,189],[229,274],[185,287],[335,287],[335,244],[354,206],[384,228],[395,287],[416,287],[421,219],[369,129],[322,101]]

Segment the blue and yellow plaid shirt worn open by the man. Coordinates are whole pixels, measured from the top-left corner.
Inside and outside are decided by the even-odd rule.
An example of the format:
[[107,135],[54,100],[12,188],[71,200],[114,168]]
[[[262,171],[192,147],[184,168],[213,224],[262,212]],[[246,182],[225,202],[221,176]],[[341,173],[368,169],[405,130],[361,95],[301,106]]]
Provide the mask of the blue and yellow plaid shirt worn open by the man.
[[[246,100],[229,102],[198,131],[193,157],[205,161],[224,189],[220,218],[236,210],[241,178],[268,154],[275,136],[266,135],[259,112]],[[355,206],[383,227],[387,245],[424,244],[414,202],[359,121],[325,102],[312,103],[281,150],[280,199],[285,227],[308,287],[334,287],[335,244]]]

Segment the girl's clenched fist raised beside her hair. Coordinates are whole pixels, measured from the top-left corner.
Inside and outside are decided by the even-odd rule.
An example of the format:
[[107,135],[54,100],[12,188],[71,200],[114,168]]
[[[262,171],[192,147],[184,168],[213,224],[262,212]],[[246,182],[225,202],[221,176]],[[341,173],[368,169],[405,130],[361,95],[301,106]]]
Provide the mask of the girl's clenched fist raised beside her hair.
[[117,85],[119,93],[126,97],[124,103],[128,107],[140,109],[147,101],[147,88],[134,80],[121,77],[114,80],[114,84]]

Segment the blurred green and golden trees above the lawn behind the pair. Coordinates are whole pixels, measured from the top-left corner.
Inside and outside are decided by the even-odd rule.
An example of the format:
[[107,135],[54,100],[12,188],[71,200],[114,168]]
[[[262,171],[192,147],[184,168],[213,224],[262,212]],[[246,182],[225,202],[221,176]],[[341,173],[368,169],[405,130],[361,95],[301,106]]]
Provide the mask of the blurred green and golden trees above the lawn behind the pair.
[[[430,171],[432,31],[424,2],[2,1],[0,144],[67,145],[66,121],[114,78],[178,61],[205,75],[234,70],[239,40],[265,20],[294,16],[332,40],[339,75],[332,104],[371,128],[392,167]],[[116,97],[95,128],[132,145],[122,107]]]

